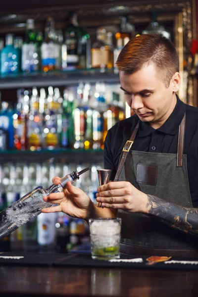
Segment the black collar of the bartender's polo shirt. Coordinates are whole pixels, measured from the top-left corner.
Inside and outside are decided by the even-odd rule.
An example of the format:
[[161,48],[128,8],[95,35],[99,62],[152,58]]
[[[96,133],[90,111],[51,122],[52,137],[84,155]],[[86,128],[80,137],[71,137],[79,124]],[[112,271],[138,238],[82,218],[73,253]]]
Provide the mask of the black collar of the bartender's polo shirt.
[[[158,129],[156,129],[165,134],[175,135],[184,117],[184,113],[186,109],[185,104],[179,99],[177,95],[176,97],[177,97],[177,103],[175,105],[173,112],[171,113],[169,118],[165,121],[165,123]],[[142,122],[141,120],[139,120],[139,122],[140,122],[140,127],[139,127],[140,137],[148,136],[149,134],[155,131],[155,129],[152,128],[148,123]]]

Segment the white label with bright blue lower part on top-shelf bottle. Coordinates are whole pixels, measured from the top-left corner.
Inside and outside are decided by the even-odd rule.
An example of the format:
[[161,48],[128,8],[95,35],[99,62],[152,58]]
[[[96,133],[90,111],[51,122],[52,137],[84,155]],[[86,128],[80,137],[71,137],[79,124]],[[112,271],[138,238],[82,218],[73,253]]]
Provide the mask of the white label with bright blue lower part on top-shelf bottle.
[[42,65],[55,65],[55,45],[43,43],[41,47]]

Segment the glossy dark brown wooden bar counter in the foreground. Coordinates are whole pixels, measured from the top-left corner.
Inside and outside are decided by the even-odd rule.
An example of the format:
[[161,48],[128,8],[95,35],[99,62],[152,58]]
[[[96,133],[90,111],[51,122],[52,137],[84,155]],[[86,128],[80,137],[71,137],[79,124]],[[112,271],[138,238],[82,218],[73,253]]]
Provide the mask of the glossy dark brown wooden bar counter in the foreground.
[[197,269],[0,264],[0,297],[196,297]]

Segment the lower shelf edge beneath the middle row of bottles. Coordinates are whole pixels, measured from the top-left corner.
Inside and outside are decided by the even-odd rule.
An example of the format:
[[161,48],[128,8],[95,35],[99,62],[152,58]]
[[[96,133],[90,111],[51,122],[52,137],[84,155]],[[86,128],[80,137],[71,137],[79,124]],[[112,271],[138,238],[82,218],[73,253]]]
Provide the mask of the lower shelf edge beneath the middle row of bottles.
[[103,159],[102,149],[42,149],[42,150],[1,150],[0,163],[2,162],[44,162],[53,159],[54,162],[65,163],[99,163]]

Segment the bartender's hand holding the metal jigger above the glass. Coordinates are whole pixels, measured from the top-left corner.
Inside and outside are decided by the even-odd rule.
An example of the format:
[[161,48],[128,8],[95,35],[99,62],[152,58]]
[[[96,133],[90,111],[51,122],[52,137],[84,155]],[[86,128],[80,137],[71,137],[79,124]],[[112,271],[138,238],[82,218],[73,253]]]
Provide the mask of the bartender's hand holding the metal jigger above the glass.
[[112,182],[98,188],[97,201],[102,207],[128,212],[148,213],[148,196],[129,182]]

